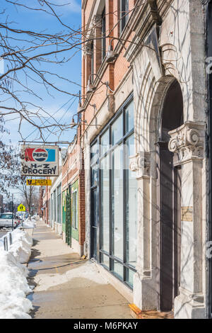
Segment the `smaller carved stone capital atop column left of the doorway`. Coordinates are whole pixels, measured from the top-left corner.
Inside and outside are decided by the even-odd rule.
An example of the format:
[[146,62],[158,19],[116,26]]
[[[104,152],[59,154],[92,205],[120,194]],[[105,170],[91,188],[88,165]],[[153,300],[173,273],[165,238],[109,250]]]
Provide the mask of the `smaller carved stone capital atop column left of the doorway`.
[[150,177],[150,152],[140,152],[135,156],[129,157],[129,169],[136,172],[136,178],[149,178]]

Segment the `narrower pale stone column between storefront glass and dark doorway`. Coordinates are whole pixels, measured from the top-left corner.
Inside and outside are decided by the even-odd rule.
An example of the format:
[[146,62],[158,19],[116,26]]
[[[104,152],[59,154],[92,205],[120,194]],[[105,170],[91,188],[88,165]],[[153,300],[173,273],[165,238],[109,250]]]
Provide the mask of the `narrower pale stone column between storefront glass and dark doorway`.
[[136,172],[138,181],[138,236],[137,272],[134,275],[134,304],[141,310],[156,310],[158,293],[153,269],[151,220],[151,153],[139,152],[130,157],[130,169]]

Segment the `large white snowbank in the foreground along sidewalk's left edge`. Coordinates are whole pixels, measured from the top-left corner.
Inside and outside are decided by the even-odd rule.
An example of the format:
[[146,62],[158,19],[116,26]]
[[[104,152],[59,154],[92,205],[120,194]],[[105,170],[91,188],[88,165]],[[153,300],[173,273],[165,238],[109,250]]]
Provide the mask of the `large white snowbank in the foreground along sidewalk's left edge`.
[[[8,237],[8,234],[7,234]],[[28,269],[22,265],[28,262],[33,239],[27,232],[16,229],[12,232],[13,244],[8,252],[0,247],[0,319],[30,319],[33,305],[26,298],[32,290],[28,286]],[[2,239],[0,239],[2,245]]]

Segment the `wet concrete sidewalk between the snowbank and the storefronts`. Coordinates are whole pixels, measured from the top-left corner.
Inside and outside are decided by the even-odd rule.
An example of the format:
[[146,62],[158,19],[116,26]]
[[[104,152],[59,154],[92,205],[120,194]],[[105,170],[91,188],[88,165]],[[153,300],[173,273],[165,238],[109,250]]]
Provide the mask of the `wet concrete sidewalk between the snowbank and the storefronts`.
[[37,222],[35,246],[28,263],[32,317],[47,319],[131,319],[127,300],[81,260],[44,222]]

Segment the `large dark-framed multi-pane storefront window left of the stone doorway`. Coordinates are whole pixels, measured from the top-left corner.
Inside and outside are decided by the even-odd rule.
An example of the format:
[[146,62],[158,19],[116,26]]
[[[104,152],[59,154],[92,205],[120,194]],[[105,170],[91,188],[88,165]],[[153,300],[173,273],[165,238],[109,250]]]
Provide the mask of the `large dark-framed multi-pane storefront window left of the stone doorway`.
[[95,224],[91,221],[93,257],[131,288],[137,256],[137,184],[129,170],[134,154],[134,102],[129,99],[90,147],[90,186],[96,193],[90,207],[91,216],[94,206],[99,216]]

